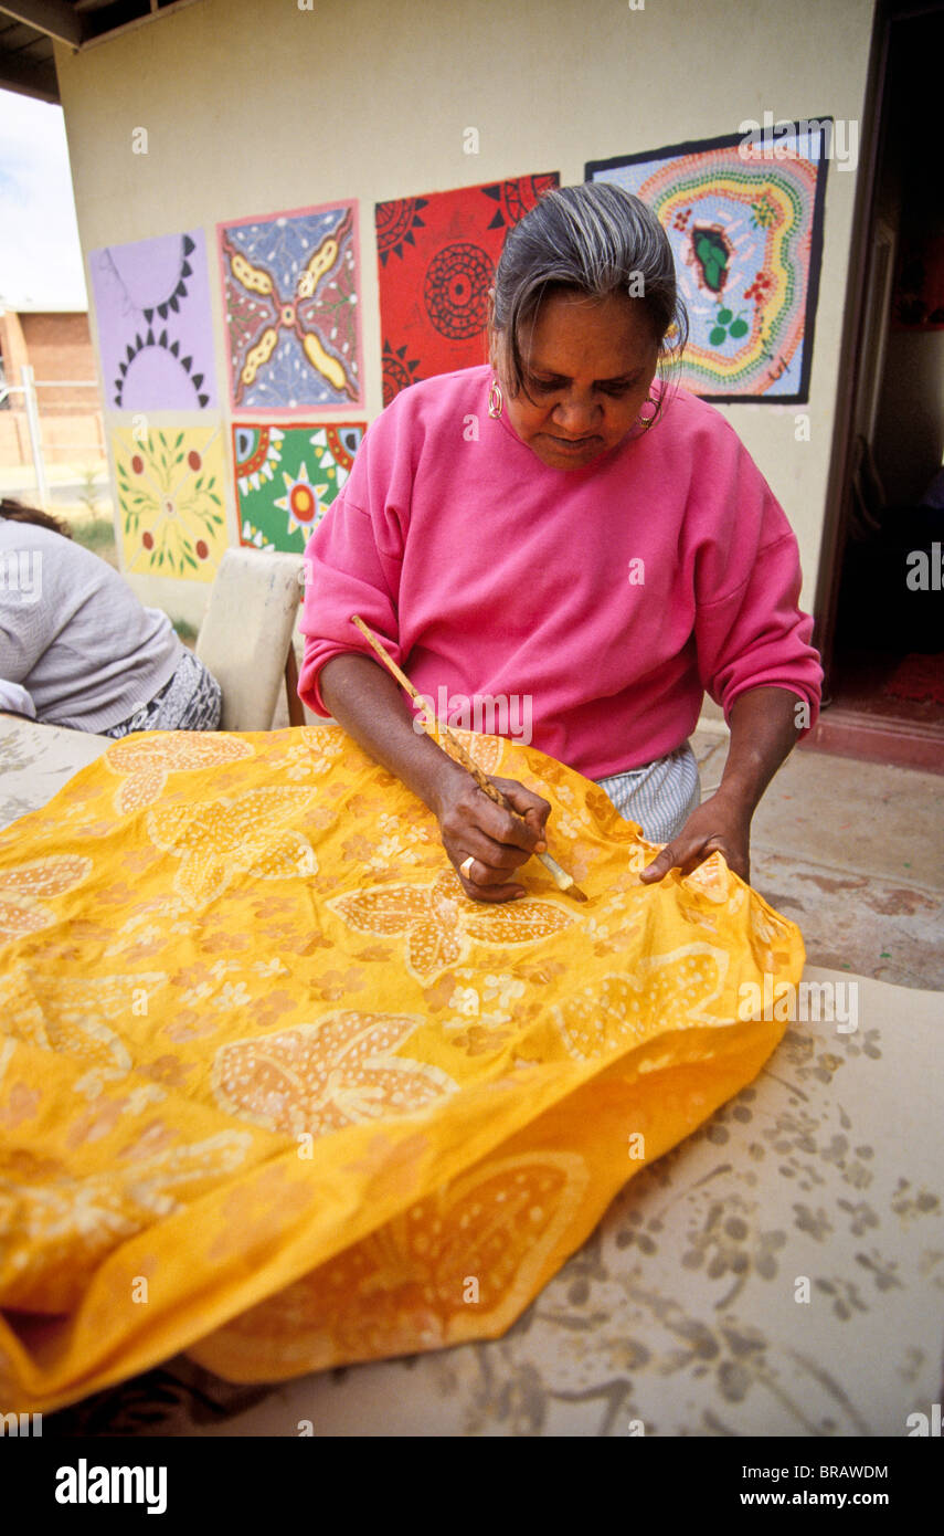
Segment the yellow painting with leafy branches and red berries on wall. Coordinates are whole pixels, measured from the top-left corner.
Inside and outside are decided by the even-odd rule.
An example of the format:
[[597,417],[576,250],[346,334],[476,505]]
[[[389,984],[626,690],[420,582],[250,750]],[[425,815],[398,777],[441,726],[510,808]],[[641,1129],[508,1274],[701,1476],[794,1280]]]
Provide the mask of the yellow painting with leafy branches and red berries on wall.
[[124,570],[212,581],[227,547],[219,427],[112,433]]

